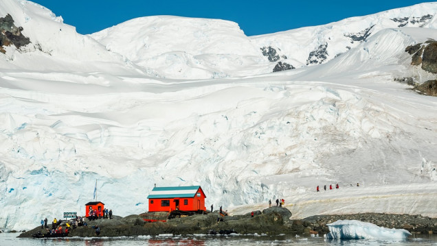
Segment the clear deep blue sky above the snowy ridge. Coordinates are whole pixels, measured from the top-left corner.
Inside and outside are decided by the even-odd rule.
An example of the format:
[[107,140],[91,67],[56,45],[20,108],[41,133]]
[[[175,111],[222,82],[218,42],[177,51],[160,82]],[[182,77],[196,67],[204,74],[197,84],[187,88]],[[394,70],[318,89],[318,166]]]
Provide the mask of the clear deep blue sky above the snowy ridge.
[[323,25],[351,16],[374,14],[429,1],[294,1],[294,0],[34,0],[49,8],[80,34],[91,34],[142,16],[175,15],[224,19],[247,36]]

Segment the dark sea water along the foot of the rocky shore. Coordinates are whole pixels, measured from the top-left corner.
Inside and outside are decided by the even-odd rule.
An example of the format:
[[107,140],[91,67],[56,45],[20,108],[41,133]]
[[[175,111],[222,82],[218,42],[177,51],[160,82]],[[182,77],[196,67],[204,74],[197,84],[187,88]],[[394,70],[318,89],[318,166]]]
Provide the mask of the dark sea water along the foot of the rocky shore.
[[121,246],[121,245],[434,245],[437,246],[436,235],[421,235],[408,238],[406,241],[390,240],[341,240],[326,241],[321,237],[303,236],[267,236],[267,235],[229,235],[229,236],[138,236],[117,238],[50,238],[32,239],[16,238],[18,233],[1,233],[0,246],[30,246],[30,245],[96,245],[96,246]]

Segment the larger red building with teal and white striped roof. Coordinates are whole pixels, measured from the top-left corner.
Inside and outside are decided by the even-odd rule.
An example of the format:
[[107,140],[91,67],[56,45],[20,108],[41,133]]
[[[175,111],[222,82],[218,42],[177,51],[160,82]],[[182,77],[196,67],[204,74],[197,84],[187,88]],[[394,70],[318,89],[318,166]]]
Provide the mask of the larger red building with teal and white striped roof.
[[201,186],[155,187],[148,195],[148,212],[205,211]]

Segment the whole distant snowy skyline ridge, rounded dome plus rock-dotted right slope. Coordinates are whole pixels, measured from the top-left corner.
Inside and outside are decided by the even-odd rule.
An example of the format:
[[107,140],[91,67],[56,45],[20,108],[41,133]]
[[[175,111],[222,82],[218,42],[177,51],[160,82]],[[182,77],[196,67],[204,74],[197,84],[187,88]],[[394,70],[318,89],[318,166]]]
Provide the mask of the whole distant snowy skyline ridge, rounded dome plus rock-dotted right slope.
[[[159,77],[239,77],[271,73],[278,61],[297,68],[326,63],[383,29],[435,28],[436,12],[437,3],[422,3],[252,37],[245,36],[238,24],[230,21],[148,16],[90,36],[138,66],[155,69]],[[277,56],[269,58],[271,62],[262,54],[267,48],[273,52],[271,56]]]

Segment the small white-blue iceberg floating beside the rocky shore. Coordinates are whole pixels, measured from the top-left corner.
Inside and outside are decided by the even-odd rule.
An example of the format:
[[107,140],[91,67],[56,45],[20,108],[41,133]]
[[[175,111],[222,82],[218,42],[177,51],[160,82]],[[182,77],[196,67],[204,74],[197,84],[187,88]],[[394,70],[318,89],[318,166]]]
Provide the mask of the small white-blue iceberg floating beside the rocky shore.
[[405,240],[411,235],[404,229],[388,229],[368,222],[339,220],[327,224],[329,233],[326,239],[396,239]]

